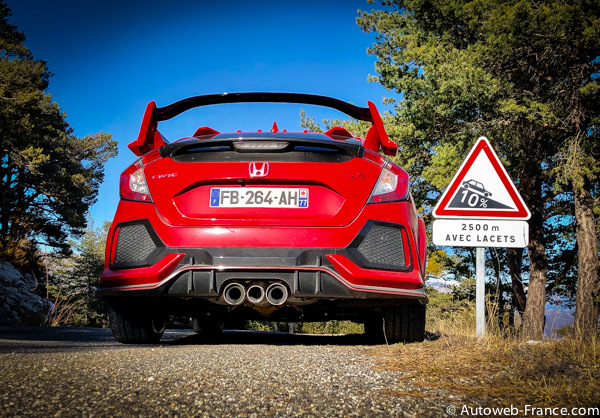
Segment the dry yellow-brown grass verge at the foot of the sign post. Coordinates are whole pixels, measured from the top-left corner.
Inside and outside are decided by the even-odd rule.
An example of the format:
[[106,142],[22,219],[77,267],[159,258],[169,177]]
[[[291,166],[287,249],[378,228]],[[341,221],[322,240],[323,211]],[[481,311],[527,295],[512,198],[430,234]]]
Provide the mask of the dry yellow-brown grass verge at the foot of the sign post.
[[[439,338],[376,349],[386,369],[407,372],[399,378],[403,384],[443,389],[455,396],[490,397],[495,406],[600,405],[597,337],[528,343],[515,336],[499,336],[488,324],[488,336],[477,339],[471,306],[454,306],[450,314],[443,304],[432,308],[427,329]],[[418,390],[402,394],[420,396]]]

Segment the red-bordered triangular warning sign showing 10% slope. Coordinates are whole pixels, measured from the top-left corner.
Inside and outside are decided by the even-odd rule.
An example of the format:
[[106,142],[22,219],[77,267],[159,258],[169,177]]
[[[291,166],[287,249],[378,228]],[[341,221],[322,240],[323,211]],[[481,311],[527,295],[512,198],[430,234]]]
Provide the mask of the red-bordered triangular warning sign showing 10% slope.
[[475,143],[433,210],[435,218],[531,217],[487,138]]

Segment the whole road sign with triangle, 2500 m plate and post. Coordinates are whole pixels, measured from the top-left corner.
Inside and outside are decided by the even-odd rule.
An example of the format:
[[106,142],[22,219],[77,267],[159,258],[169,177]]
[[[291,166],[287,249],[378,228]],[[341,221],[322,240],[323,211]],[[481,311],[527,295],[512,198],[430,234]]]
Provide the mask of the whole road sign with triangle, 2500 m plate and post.
[[477,247],[476,335],[485,336],[485,248],[529,244],[529,209],[487,138],[477,140],[433,210],[433,243]]

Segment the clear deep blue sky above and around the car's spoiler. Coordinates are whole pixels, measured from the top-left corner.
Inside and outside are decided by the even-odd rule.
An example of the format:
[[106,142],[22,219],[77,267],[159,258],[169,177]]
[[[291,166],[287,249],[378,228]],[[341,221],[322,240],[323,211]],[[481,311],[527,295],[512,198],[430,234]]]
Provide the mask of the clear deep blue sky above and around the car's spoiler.
[[[356,25],[366,0],[88,2],[7,0],[36,58],[54,73],[48,90],[75,134],[110,132],[119,156],[106,165],[96,225],[112,220],[121,171],[135,160],[127,148],[139,132],[146,104],[164,106],[189,96],[282,91],[333,96],[380,107],[391,96],[367,82],[375,74],[367,48],[372,34]],[[299,130],[304,108],[317,120],[343,116],[322,107],[288,104],[218,105],[162,122],[170,140],[197,127]]]

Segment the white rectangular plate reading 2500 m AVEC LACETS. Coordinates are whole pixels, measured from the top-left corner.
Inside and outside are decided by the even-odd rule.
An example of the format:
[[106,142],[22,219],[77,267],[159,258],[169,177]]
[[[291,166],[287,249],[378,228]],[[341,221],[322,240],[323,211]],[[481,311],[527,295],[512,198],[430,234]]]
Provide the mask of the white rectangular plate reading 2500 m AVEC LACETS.
[[436,219],[433,243],[453,247],[525,248],[529,244],[526,221]]

